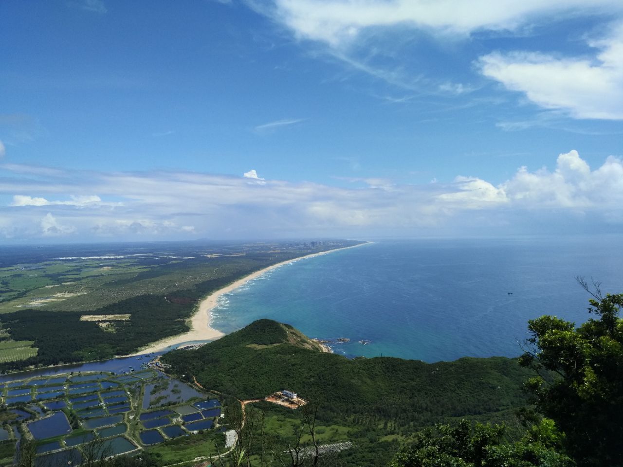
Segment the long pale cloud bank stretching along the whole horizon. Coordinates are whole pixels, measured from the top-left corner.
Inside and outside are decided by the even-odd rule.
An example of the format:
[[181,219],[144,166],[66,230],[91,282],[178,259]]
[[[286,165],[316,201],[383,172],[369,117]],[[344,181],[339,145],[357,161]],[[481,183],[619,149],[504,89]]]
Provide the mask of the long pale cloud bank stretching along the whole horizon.
[[4,164],[0,171],[16,176],[0,182],[11,199],[0,207],[0,235],[13,241],[516,234],[516,219],[538,233],[534,224],[552,217],[558,233],[623,224],[623,160],[591,169],[577,151],[560,154],[552,170],[520,167],[497,186],[475,176],[339,188],[263,180],[255,170],[234,177]]

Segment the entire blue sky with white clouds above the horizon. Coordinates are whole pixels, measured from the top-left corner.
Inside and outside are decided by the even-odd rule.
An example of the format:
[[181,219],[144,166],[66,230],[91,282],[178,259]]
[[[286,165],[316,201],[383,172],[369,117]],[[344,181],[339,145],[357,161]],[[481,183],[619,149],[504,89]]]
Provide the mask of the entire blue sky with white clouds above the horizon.
[[2,0],[0,244],[612,234],[621,0]]

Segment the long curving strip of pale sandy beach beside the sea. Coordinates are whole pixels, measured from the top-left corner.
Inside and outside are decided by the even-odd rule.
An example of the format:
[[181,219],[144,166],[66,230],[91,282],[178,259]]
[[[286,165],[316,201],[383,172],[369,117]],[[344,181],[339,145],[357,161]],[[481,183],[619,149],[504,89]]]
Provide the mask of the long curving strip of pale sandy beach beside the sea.
[[348,250],[348,248],[361,247],[362,245],[368,245],[368,243],[372,243],[372,242],[359,243],[359,245],[353,245],[352,247],[336,248],[335,250],[328,250],[326,252],[312,253],[311,255],[305,255],[299,258],[294,258],[292,260],[287,260],[281,263],[274,264],[267,268],[260,269],[259,271],[255,271],[254,273],[251,273],[248,276],[244,276],[242,279],[232,282],[231,284],[223,287],[222,289],[212,292],[210,295],[204,298],[204,300],[199,302],[199,305],[197,306],[195,313],[190,318],[190,321],[191,321],[190,331],[184,334],[178,334],[178,336],[172,336],[166,339],[162,339],[161,341],[154,342],[153,344],[150,344],[149,346],[141,349],[140,351],[135,352],[134,354],[131,354],[131,356],[141,355],[141,354],[151,354],[153,352],[160,352],[160,351],[167,349],[168,347],[182,344],[183,342],[214,341],[216,339],[219,339],[219,337],[222,337],[225,334],[221,333],[221,331],[217,331],[217,329],[211,328],[210,319],[211,319],[211,311],[218,304],[218,300],[221,295],[225,293],[229,293],[232,290],[240,287],[241,285],[244,285],[248,281],[258,278],[265,272],[273,270],[280,266],[294,263],[300,260],[304,260],[306,258],[314,258],[320,255],[326,255],[328,253],[338,252],[340,250]]

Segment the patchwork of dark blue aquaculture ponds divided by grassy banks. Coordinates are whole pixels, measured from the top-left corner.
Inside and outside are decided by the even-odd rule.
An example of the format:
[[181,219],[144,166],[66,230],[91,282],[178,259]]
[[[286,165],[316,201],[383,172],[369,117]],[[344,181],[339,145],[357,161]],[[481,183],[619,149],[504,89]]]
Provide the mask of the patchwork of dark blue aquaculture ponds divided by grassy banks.
[[[45,377],[32,372],[20,380],[5,380],[0,395],[7,403],[28,404],[24,410],[10,408],[16,419],[9,422],[11,430],[0,428],[0,441],[19,440],[17,423],[26,422],[34,439],[40,441],[35,467],[78,465],[81,446],[96,439],[105,441],[107,454],[118,455],[192,436],[196,430],[214,427],[206,417],[217,417],[220,409],[215,412],[213,407],[221,405],[219,400],[206,399],[205,392],[153,369],[122,375],[98,372]],[[78,423],[76,430],[69,420]]]

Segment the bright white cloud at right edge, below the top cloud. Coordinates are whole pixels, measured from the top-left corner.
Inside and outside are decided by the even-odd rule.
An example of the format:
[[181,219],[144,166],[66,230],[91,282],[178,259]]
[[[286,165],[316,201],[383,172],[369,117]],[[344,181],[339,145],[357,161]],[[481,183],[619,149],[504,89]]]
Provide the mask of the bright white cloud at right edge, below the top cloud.
[[495,52],[480,58],[483,75],[548,109],[575,118],[623,119],[623,26],[590,43],[590,57],[559,58],[534,52]]

